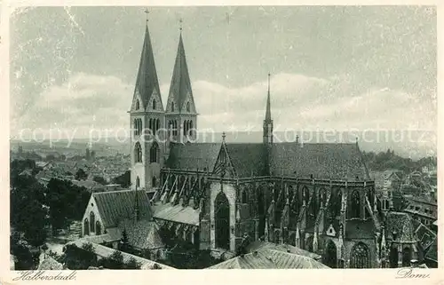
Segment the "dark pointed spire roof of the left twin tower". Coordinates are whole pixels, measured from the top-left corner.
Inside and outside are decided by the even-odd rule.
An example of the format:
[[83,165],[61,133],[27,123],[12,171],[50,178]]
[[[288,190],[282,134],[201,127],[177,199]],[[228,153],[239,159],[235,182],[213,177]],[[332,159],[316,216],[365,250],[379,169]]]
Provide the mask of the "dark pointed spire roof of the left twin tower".
[[[144,107],[147,107],[147,102],[149,102],[153,91],[159,92],[160,95],[159,80],[157,79],[157,71],[155,70],[155,57],[153,55],[148,26],[145,30],[145,40],[143,42],[142,54],[140,55],[139,72],[134,94],[136,94],[137,91],[139,91]],[[161,96],[159,96],[159,98],[161,98]],[[163,108],[162,99],[160,106]]]

